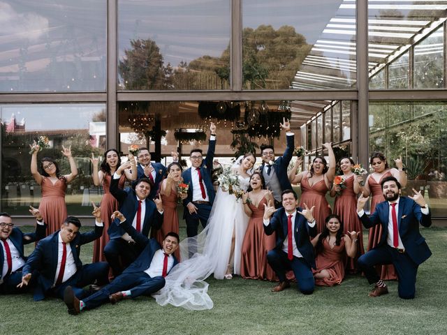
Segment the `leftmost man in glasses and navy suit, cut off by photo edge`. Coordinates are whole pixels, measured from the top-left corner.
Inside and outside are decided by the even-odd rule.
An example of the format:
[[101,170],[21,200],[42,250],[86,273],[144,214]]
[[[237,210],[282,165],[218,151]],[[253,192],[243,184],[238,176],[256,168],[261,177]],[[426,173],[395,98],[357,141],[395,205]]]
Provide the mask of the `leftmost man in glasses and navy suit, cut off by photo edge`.
[[43,239],[47,225],[43,222],[40,211],[30,206],[29,211],[37,220],[36,231],[24,234],[14,227],[13,218],[8,213],[0,213],[0,294],[21,292],[17,288],[22,282],[22,267],[27,258],[24,244]]

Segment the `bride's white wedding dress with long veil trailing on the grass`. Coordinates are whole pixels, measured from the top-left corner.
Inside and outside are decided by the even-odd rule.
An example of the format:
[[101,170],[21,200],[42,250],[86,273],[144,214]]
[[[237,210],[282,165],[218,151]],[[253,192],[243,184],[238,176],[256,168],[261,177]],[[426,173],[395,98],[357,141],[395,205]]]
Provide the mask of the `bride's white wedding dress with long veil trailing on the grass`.
[[[249,178],[238,176],[240,187],[247,191]],[[231,253],[231,239],[235,231],[234,273],[240,274],[242,242],[249,217],[244,212],[242,199],[222,191],[219,187],[206,228],[196,237],[180,242],[181,262],[166,276],[166,285],[152,295],[158,304],[172,304],[190,310],[210,309],[212,299],[207,294],[205,279],[214,273],[222,279],[226,274]],[[197,250],[189,257],[189,250]]]

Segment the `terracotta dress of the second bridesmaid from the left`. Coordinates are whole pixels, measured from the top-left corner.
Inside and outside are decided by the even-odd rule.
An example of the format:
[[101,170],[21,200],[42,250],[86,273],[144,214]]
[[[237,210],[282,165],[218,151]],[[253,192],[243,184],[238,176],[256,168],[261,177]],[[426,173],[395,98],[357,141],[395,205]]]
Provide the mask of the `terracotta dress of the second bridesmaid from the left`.
[[[117,211],[119,207],[118,200],[116,200],[112,193],[110,193],[111,180],[112,176],[110,176],[110,174],[104,174],[104,195],[101,199],[101,220],[104,224],[104,230],[102,236],[94,241],[92,262],[106,262],[104,257],[104,247],[109,241],[109,234],[107,233],[107,230],[110,227],[110,223],[112,223],[112,218],[110,218],[110,216],[112,216],[113,212]],[[124,183],[126,183],[126,176],[122,174],[118,181],[118,187],[124,188]]]

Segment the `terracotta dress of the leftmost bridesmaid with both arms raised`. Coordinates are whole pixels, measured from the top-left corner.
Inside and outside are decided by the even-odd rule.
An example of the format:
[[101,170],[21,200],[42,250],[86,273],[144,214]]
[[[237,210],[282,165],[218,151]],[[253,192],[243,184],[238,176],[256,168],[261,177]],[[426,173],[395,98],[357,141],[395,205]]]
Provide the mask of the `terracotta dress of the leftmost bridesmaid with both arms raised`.
[[67,205],[65,203],[65,192],[67,184],[61,179],[52,183],[50,178],[43,177],[42,200],[39,204],[39,211],[43,220],[47,223],[47,235],[52,234],[61,228],[61,224],[67,218]]

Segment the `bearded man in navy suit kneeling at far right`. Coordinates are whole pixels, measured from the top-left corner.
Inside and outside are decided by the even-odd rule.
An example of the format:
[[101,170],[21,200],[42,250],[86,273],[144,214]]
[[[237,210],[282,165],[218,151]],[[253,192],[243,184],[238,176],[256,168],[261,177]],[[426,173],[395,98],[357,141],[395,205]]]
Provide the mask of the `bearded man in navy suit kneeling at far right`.
[[376,210],[367,216],[363,207],[368,198],[358,198],[357,212],[365,228],[382,226],[379,244],[358,259],[358,267],[365,273],[370,284],[374,283],[369,297],[386,295],[388,288],[377,274],[375,265],[393,264],[399,281],[399,297],[413,299],[416,292],[416,274],[419,265],[432,255],[425,238],[419,232],[419,223],[430,227],[432,220],[423,195],[416,192],[412,197],[400,196],[400,183],[395,177],[386,177],[381,182],[386,201],[376,205]]

